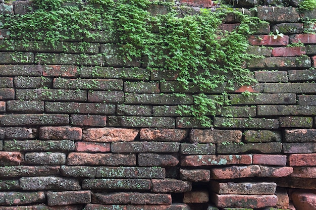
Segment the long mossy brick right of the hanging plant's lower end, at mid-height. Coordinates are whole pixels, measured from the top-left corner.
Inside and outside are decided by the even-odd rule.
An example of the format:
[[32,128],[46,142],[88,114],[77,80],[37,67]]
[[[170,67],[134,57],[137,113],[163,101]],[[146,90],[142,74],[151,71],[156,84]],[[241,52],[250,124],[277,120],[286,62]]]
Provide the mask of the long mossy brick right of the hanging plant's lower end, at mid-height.
[[[273,83],[274,84],[274,83]],[[294,93],[259,93],[257,95],[231,94],[232,104],[295,104]]]

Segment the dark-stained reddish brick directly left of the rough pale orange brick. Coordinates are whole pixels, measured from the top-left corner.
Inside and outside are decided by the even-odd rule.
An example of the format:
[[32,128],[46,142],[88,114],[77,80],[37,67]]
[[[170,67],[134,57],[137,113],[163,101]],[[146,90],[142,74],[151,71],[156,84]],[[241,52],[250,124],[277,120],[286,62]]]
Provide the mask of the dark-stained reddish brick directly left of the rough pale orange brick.
[[44,140],[81,140],[81,137],[81,128],[69,126],[39,128],[39,138]]

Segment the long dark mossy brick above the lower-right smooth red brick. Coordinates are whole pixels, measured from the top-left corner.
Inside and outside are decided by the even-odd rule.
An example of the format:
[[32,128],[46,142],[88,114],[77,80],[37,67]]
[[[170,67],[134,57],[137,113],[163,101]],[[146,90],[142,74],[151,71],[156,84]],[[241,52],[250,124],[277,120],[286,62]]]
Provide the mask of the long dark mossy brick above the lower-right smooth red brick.
[[280,153],[282,151],[282,143],[245,143],[245,144],[218,144],[217,153],[219,154],[235,154],[235,153]]

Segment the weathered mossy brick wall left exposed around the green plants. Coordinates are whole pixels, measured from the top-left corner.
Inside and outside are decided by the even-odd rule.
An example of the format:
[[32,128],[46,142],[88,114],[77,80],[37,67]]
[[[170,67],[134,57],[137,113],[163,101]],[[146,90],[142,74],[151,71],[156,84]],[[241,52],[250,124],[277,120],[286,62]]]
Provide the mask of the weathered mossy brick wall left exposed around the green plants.
[[[99,56],[115,37],[84,52],[41,41],[8,50],[0,29],[0,209],[314,209],[316,35],[304,30],[316,26],[303,21],[316,10],[235,6],[269,22],[249,36],[249,51],[265,58],[247,63],[258,83],[231,91],[212,129],[175,112],[195,93],[174,94],[175,72]],[[222,27],[237,25],[227,17]],[[274,39],[277,29],[284,36]],[[77,41],[91,40],[65,46]],[[288,46],[297,42],[304,46]]]

